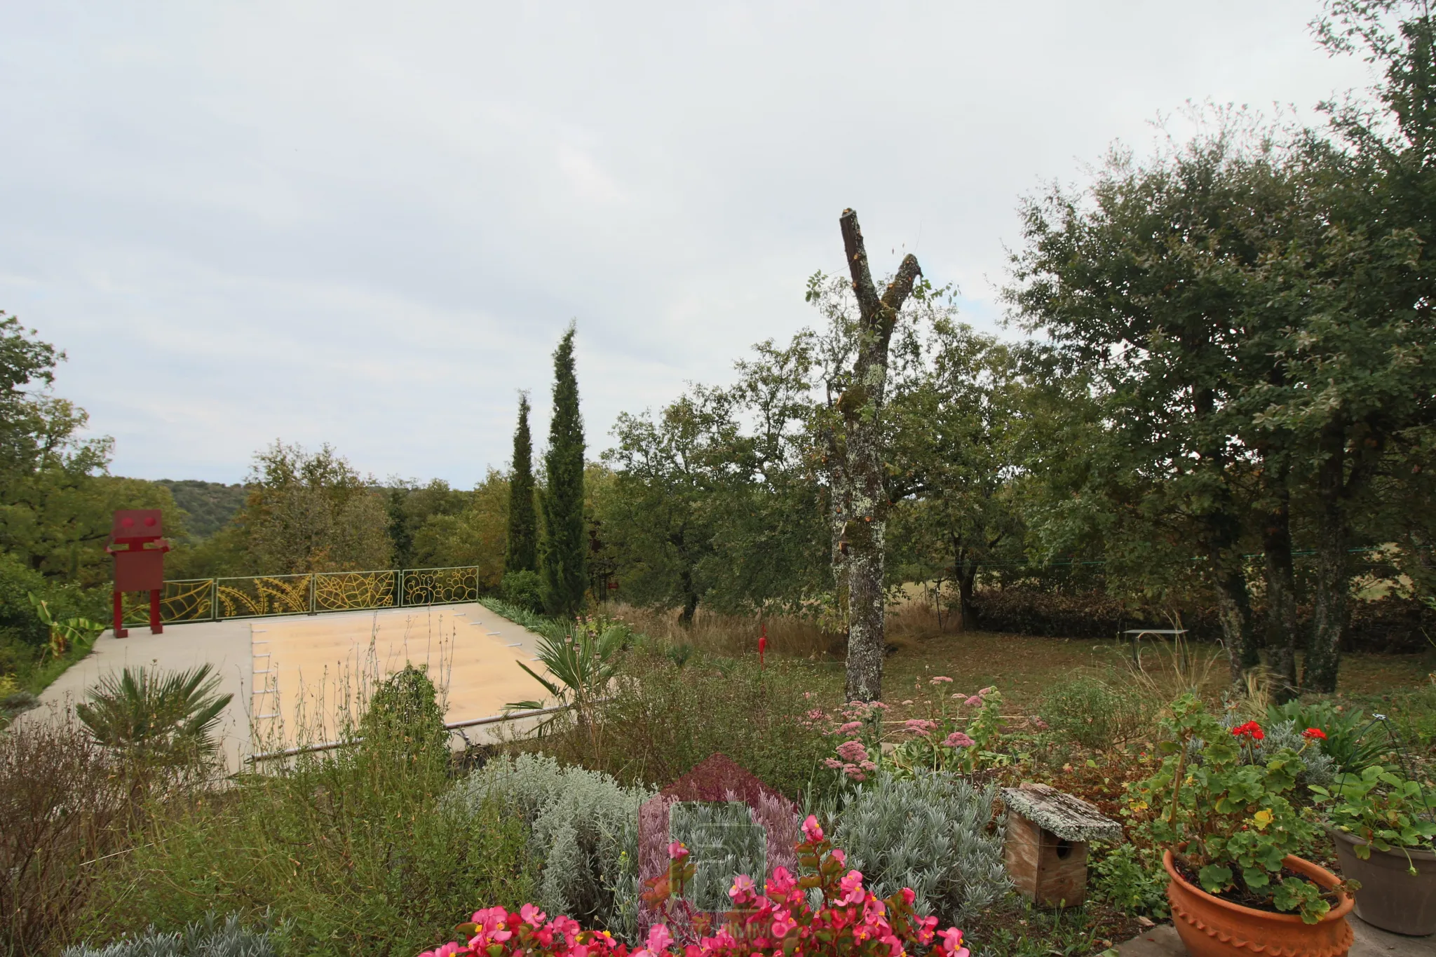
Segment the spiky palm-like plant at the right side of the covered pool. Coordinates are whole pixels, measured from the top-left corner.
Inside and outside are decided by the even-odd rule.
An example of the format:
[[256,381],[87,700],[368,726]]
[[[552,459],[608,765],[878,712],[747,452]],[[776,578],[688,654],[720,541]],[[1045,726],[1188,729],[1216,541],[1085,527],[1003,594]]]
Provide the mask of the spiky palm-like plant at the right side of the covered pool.
[[[566,624],[554,631],[546,631],[538,638],[537,657],[543,661],[553,680],[538,674],[531,667],[518,663],[528,671],[554,702],[573,709],[579,732],[587,736],[595,758],[599,756],[600,729],[596,709],[619,670],[619,653],[629,640],[629,630],[622,624],[610,624],[595,630]],[[511,702],[511,709],[537,709],[541,702]]]

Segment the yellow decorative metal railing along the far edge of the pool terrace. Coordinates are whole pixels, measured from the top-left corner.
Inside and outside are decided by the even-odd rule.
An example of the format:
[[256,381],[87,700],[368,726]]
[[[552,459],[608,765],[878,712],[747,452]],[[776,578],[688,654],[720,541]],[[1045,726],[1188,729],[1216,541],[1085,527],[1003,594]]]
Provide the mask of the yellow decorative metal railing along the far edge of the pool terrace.
[[[365,611],[478,598],[478,567],[320,571],[307,575],[246,575],[167,581],[159,620],[223,621],[277,614]],[[149,621],[149,595],[126,593],[125,624]]]

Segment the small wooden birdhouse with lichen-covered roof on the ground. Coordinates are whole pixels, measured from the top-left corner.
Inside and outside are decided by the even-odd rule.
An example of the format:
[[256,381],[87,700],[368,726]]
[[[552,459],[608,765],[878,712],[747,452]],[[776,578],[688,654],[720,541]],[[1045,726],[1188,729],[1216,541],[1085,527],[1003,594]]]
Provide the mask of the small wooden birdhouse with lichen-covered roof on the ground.
[[1004,788],[1007,872],[1038,907],[1076,907],[1087,897],[1087,844],[1120,841],[1122,825],[1048,785]]

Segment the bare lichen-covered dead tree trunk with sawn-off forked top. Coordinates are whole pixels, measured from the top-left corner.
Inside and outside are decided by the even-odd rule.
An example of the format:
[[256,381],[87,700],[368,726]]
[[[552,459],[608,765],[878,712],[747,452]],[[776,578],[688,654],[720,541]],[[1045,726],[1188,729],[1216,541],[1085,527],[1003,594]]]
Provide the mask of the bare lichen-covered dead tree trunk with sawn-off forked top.
[[[887,532],[887,491],[883,484],[883,400],[887,389],[887,347],[898,311],[922,275],[918,257],[908,254],[882,296],[873,287],[867,250],[857,214],[839,217],[843,250],[857,297],[857,349],[853,373],[839,397],[843,420],[846,504],[839,541],[847,567],[847,700],[873,702],[883,696],[883,561]],[[834,489],[836,498],[836,489]],[[834,521],[834,525],[837,522]]]

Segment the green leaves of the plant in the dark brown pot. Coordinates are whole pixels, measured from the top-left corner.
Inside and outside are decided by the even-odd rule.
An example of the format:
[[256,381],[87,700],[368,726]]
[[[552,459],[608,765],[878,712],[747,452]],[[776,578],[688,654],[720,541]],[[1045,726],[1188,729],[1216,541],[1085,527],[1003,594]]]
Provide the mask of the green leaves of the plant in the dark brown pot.
[[1371,765],[1358,775],[1338,776],[1330,791],[1315,785],[1311,789],[1318,801],[1330,803],[1327,818],[1333,826],[1364,841],[1356,845],[1358,858],[1370,858],[1371,848],[1432,849],[1436,812],[1420,783]]

